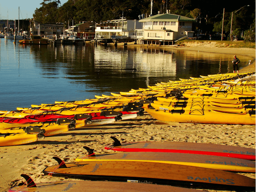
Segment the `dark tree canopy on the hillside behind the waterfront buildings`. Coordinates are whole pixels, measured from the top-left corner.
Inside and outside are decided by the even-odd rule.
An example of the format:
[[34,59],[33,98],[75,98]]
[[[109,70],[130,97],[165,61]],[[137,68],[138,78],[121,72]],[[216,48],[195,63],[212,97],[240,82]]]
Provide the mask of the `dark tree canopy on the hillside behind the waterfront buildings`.
[[[79,23],[79,21],[99,23],[120,19],[122,15],[127,19],[138,19],[138,15],[149,16],[151,13],[151,0],[68,0],[62,6],[59,0],[43,0],[41,5],[42,7],[36,9],[33,15],[34,19],[40,23],[71,23],[72,21],[74,23]],[[230,33],[232,12],[232,29],[235,33],[250,29],[255,18],[255,0],[236,2],[235,6],[231,5],[228,0],[153,1],[153,15],[158,12],[166,13],[168,10],[171,14],[196,19],[195,27],[202,33],[221,33],[223,8],[225,8],[223,26],[225,34]]]

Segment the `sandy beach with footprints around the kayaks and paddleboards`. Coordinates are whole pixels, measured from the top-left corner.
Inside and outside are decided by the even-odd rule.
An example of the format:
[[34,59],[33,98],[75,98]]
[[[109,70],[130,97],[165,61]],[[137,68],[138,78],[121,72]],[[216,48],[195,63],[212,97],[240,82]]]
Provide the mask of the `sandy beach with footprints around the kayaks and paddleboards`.
[[[130,43],[128,46],[141,45],[132,45]],[[247,56],[248,59],[252,60],[251,65],[247,65],[240,72],[255,72],[255,49],[210,46],[203,46],[204,48],[202,49],[202,46],[161,46],[160,48],[236,54],[238,58],[239,56]],[[31,144],[1,147],[0,192],[8,191],[10,187],[19,183],[19,180],[22,179],[20,176],[22,173],[29,175],[35,182],[75,180],[48,175],[44,176],[42,170],[48,166],[56,165],[57,162],[52,158],[54,156],[63,159],[65,162],[75,161],[75,158],[87,153],[83,148],[84,146],[94,149],[97,154],[112,152],[111,150],[104,149],[106,145],[113,142],[110,138],[111,136],[118,138],[121,143],[178,141],[241,146],[255,149],[255,127],[255,125],[161,122],[145,113],[143,116],[138,116],[135,119],[115,122],[113,124],[77,128],[56,136],[45,137]],[[255,179],[255,173],[238,174]]]

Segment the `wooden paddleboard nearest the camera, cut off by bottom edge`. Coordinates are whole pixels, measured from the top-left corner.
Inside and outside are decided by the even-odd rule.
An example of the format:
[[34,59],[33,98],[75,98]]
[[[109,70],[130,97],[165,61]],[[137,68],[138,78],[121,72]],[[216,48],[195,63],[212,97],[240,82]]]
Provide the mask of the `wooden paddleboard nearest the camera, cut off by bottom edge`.
[[9,189],[8,192],[159,192],[159,191],[172,191],[172,192],[200,192],[196,189],[187,189],[181,187],[172,187],[168,185],[152,185],[148,183],[137,182],[111,182],[111,181],[59,181],[47,183],[34,183],[34,181],[24,174],[27,178],[27,183],[21,186],[15,186]]

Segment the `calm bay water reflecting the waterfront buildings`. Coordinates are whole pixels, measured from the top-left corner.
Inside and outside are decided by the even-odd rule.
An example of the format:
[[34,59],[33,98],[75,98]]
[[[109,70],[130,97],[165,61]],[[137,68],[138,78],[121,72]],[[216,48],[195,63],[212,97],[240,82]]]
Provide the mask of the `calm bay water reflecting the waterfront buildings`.
[[[245,66],[248,59],[239,59],[240,67]],[[232,72],[232,60],[232,55],[182,50],[20,45],[0,38],[0,110],[92,99],[161,81]]]

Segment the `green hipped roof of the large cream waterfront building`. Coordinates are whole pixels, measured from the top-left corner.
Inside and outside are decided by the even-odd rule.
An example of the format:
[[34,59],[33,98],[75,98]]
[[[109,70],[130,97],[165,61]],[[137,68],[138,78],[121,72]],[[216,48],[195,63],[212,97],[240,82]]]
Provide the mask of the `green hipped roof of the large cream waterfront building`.
[[190,21],[190,22],[196,22],[196,20],[181,16],[181,15],[174,15],[174,14],[159,14],[159,15],[153,15],[151,17],[141,19],[139,22],[147,22],[147,21]]

